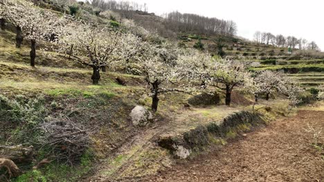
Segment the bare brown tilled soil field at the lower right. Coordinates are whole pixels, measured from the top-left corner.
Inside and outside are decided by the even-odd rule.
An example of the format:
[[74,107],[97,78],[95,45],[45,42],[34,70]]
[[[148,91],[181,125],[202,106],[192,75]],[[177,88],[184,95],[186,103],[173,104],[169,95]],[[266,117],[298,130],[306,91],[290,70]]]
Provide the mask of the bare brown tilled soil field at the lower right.
[[324,130],[324,111],[300,110],[143,181],[324,181],[324,151],[309,145],[307,123]]

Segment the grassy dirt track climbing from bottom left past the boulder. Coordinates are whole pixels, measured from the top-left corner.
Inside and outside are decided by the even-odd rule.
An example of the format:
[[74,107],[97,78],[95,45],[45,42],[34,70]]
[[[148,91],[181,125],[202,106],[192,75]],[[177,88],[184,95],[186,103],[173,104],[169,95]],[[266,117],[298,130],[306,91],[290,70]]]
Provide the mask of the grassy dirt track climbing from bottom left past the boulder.
[[[183,110],[181,114],[170,117],[168,121],[154,123],[151,128],[139,130],[136,136],[125,142],[118,148],[116,155],[102,161],[96,167],[95,174],[87,177],[83,181],[118,181],[120,179],[155,174],[163,166],[171,165],[170,154],[161,154],[159,146],[156,146],[156,137],[162,134],[177,134],[183,130],[190,130],[201,123],[208,123],[210,119],[219,120],[233,112],[240,110],[238,108],[228,108],[225,105],[218,105],[212,108],[192,108]],[[158,148],[158,150],[156,150]],[[166,150],[163,150],[166,152]],[[162,152],[163,152],[162,151]],[[154,159],[150,159],[147,154],[156,153]],[[145,166],[138,166],[138,162],[149,161]],[[156,169],[153,169],[156,168]]]

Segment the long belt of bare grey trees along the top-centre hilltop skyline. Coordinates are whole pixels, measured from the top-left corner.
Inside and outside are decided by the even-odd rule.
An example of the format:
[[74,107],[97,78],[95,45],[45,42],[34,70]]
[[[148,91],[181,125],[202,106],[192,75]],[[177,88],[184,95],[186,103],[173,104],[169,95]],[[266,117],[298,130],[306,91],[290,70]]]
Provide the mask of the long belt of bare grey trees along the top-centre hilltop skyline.
[[[217,18],[199,16],[197,14],[181,14],[170,12],[162,16],[161,22],[143,21],[138,14],[148,14],[147,5],[132,1],[115,0],[87,0],[91,6],[100,10],[112,10],[118,12],[121,17],[134,19],[136,23],[147,29],[158,31],[163,37],[170,37],[172,32],[192,32],[195,34],[221,34],[233,36],[237,33],[237,25],[234,21],[225,21]],[[137,13],[135,13],[137,12]],[[142,13],[139,13],[142,12]]]

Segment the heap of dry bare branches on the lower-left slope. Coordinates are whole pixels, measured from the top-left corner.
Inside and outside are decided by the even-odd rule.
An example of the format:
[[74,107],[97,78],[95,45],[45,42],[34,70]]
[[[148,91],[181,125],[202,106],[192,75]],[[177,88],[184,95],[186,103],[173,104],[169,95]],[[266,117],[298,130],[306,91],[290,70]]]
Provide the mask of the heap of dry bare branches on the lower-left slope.
[[56,120],[40,125],[43,134],[40,139],[42,148],[59,161],[70,163],[78,161],[89,147],[89,132],[83,125],[69,120]]

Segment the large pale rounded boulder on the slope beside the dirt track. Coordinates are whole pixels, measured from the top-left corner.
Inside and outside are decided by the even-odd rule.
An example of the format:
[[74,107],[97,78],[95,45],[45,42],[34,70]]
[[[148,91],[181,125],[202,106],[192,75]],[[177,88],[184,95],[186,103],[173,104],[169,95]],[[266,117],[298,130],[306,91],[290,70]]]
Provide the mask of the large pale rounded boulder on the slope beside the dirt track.
[[137,105],[129,114],[134,125],[145,126],[153,120],[152,112],[144,108],[143,106]]

